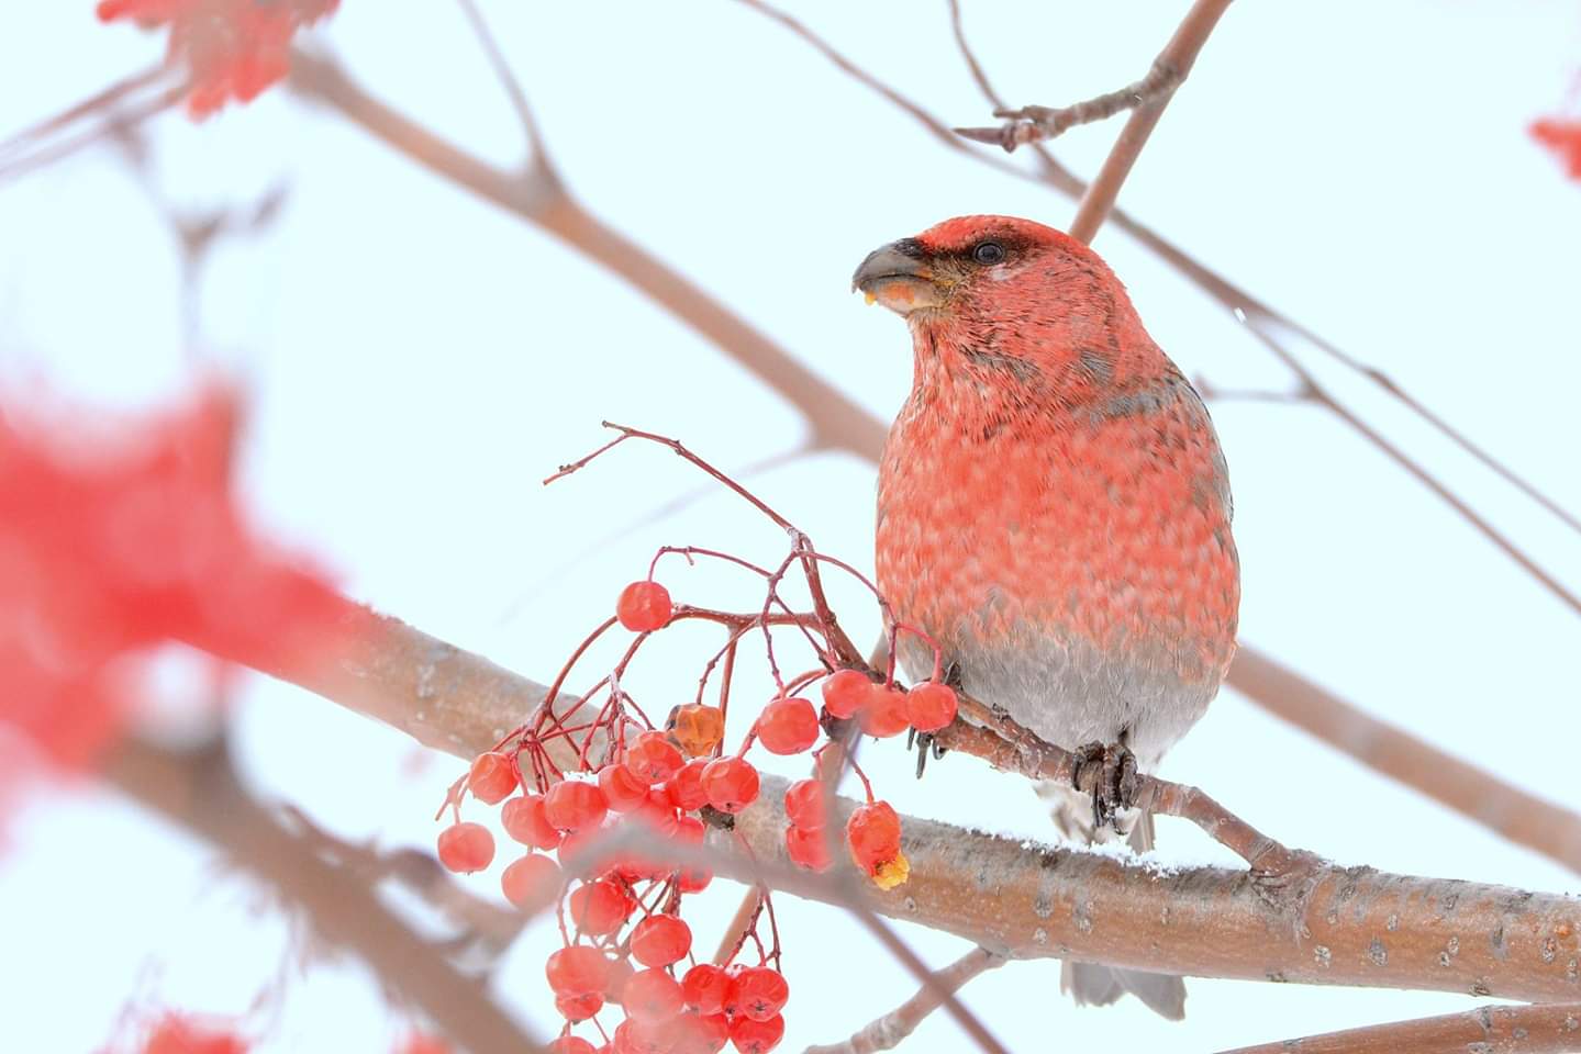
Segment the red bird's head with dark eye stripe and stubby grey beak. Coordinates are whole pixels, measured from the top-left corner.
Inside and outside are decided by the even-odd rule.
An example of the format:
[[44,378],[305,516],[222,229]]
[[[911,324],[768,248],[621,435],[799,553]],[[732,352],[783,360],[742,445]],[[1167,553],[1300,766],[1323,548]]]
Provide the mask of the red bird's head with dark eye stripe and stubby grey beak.
[[[1047,300],[1059,284],[1085,284],[1091,250],[1067,234],[1015,216],[957,216],[868,253],[851,278],[868,302],[911,321],[977,314],[987,305]],[[1073,280],[1062,283],[1064,278]]]

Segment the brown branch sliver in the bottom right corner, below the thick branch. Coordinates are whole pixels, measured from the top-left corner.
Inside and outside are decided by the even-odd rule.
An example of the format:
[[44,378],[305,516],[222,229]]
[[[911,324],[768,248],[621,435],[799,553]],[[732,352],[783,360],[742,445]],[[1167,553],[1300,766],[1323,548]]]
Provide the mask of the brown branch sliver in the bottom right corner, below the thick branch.
[[1309,1035],[1224,1054],[1573,1054],[1581,1051],[1581,1003],[1478,1007],[1366,1029]]

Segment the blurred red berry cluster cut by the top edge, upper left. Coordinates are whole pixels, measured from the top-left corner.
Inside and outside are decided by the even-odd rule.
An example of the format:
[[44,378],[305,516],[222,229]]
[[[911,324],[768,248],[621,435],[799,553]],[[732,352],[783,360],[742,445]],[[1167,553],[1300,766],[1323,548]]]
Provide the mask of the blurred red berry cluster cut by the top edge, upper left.
[[104,22],[169,27],[166,58],[191,76],[187,109],[215,112],[250,103],[291,71],[291,38],[330,14],[340,0],[101,0]]

